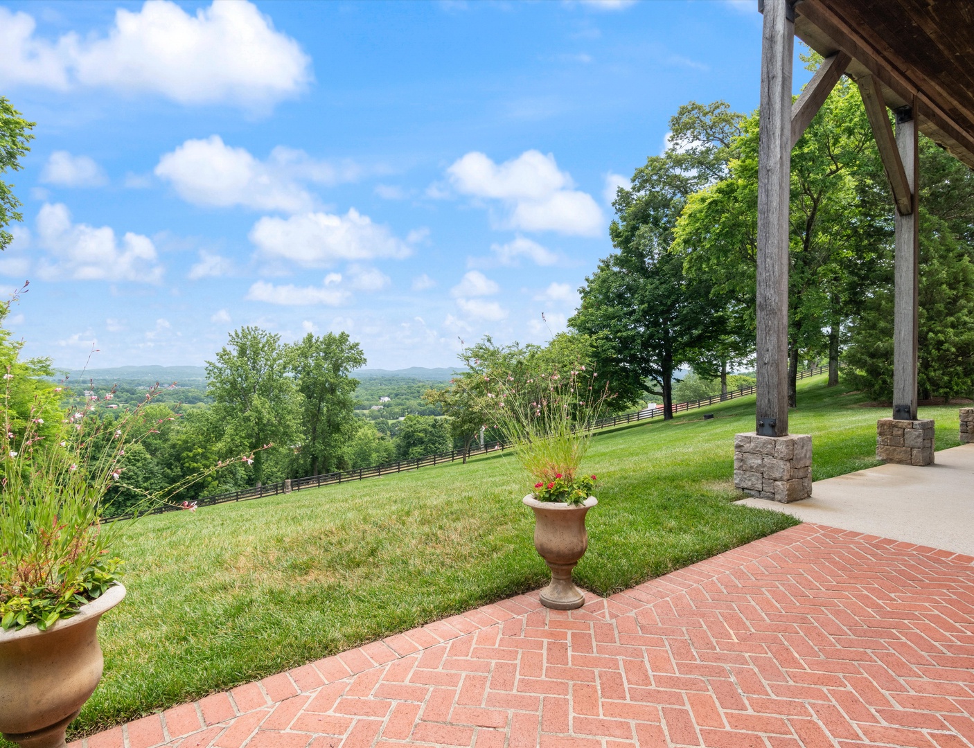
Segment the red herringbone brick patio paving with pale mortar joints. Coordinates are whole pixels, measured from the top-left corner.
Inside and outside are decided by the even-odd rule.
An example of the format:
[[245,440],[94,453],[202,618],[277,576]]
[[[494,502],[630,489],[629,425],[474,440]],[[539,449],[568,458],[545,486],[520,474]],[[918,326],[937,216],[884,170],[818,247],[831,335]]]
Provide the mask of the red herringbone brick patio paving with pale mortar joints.
[[805,524],[580,611],[515,597],[72,748],[970,746],[972,562]]

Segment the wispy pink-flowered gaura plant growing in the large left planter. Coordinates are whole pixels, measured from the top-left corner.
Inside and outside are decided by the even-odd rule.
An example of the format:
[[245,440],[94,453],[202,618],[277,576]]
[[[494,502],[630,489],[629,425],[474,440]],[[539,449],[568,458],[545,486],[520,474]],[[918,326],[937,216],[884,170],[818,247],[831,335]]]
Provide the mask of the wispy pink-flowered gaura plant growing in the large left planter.
[[[0,309],[0,319],[9,309]],[[10,351],[10,349],[8,349]],[[64,412],[62,388],[34,389],[30,402],[16,402],[19,376],[30,368],[8,356],[3,375],[0,434],[0,628],[31,623],[46,630],[99,597],[121,575],[112,543],[128,522],[101,522],[105,495],[125,486],[127,448],[157,431],[166,419],[151,419],[147,406],[158,385],[135,407],[112,402],[114,392],[89,393],[83,405]],[[173,413],[174,419],[178,414]],[[218,463],[169,488],[146,494],[146,505],[171,503],[180,490],[215,469],[253,456]],[[181,505],[176,505],[181,506]],[[187,505],[183,508],[195,508]]]

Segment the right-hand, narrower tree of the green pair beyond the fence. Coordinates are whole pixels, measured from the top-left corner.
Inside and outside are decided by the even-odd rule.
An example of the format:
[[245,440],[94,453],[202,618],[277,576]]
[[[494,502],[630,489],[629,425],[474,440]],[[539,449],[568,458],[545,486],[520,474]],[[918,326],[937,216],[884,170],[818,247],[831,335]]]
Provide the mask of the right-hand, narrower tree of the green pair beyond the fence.
[[354,431],[358,380],[351,375],[365,365],[365,355],[347,332],[320,337],[309,332],[288,348],[288,356],[303,395],[299,462],[308,475],[338,469],[343,446]]

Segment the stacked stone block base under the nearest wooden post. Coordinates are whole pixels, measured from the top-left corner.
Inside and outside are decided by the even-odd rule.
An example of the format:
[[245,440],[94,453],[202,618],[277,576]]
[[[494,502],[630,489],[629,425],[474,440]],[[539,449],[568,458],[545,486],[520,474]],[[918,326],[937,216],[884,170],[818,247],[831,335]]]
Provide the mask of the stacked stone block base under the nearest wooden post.
[[811,436],[733,437],[733,485],[748,496],[789,504],[811,496]]

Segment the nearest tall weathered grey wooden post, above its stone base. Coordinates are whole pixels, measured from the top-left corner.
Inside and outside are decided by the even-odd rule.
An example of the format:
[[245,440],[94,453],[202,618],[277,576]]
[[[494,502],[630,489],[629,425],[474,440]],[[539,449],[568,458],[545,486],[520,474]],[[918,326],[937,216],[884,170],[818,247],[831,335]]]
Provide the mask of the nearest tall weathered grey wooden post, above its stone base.
[[[757,432],[788,433],[788,204],[792,58],[789,0],[766,0],[758,151]],[[794,17],[793,17],[794,18]]]

